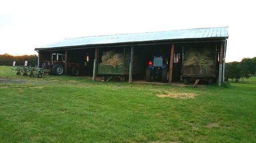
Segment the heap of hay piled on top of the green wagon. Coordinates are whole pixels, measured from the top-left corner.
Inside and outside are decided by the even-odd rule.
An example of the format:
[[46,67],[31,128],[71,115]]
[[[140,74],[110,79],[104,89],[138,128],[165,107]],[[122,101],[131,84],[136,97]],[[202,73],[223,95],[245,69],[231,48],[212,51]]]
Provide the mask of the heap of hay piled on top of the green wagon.
[[123,54],[115,50],[104,51],[99,65],[120,66],[123,65]]

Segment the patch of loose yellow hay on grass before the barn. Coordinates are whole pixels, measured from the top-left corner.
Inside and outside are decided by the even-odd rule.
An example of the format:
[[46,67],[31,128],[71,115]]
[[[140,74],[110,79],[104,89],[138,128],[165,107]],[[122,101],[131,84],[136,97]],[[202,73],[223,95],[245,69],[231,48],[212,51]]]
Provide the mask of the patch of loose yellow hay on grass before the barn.
[[158,97],[172,97],[172,98],[195,98],[196,94],[194,93],[173,93],[167,92],[166,94],[157,94]]

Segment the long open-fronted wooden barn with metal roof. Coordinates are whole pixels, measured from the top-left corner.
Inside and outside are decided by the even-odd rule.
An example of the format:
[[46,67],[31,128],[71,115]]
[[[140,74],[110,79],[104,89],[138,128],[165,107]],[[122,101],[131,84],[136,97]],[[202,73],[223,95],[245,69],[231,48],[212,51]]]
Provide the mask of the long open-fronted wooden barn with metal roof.
[[221,85],[227,39],[227,27],[210,27],[72,38],[35,50],[38,65],[56,75]]

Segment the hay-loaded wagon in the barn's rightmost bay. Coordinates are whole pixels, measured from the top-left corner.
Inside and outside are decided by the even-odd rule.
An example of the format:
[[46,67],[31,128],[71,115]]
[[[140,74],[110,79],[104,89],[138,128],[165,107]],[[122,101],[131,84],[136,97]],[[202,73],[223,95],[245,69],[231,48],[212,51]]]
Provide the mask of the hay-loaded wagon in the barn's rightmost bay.
[[217,77],[216,49],[209,47],[192,48],[184,50],[182,78],[184,83],[189,80],[200,79],[212,84]]

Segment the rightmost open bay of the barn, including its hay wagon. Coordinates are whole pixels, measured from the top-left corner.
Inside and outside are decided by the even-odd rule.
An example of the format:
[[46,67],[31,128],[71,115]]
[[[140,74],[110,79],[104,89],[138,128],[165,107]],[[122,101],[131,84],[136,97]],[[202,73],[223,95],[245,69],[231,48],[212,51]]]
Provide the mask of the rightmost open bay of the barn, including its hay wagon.
[[200,77],[201,83],[217,81],[220,46],[220,42],[184,43],[182,78],[195,81]]

